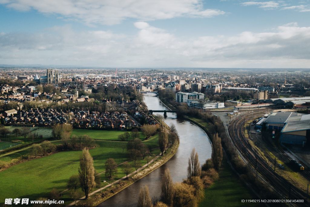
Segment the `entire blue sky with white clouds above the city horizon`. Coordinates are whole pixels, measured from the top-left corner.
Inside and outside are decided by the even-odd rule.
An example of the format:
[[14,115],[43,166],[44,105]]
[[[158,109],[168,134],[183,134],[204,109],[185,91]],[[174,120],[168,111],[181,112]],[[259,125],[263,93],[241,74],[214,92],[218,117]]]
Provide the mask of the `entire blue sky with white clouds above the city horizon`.
[[0,64],[310,68],[310,0],[0,0]]

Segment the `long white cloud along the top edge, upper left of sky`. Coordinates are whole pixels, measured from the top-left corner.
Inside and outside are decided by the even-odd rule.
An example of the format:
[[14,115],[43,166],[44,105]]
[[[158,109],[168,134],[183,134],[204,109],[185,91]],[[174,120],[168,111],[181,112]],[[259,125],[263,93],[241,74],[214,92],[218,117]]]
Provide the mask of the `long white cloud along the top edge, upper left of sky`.
[[31,9],[82,20],[87,24],[114,25],[127,18],[137,20],[174,17],[213,17],[225,14],[218,9],[204,9],[202,0],[0,0],[9,8]]

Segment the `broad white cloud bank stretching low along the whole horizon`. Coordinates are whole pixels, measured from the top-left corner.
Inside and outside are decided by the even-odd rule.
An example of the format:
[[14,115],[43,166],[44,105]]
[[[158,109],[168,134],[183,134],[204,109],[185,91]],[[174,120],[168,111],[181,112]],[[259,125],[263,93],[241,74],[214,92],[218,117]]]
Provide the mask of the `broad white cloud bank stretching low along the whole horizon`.
[[41,33],[0,32],[2,64],[118,67],[309,67],[310,27],[289,23],[273,32],[178,37],[147,22],[135,35],[76,32],[66,25]]

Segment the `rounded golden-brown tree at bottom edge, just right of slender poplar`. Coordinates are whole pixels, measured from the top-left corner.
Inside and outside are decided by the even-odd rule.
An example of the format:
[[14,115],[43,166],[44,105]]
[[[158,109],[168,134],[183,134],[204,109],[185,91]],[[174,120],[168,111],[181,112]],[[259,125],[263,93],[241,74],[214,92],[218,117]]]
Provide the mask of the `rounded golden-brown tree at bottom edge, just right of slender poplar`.
[[173,186],[173,207],[196,207],[197,201],[194,196],[194,188],[183,182],[175,183]]

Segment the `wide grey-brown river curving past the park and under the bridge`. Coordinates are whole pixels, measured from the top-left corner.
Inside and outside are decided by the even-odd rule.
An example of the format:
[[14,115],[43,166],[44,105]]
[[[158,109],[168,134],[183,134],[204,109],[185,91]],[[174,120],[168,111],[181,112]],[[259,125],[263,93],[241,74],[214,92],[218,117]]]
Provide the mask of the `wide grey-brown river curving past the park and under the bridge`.
[[[167,109],[154,93],[146,93],[144,95],[144,102],[150,110]],[[212,148],[209,137],[201,128],[186,120],[176,119],[174,113],[167,113],[167,115],[168,117],[165,119],[165,123],[168,125],[170,123],[175,124],[180,136],[179,149],[175,155],[152,173],[149,173],[144,178],[133,183],[98,206],[136,206],[139,190],[144,185],[148,186],[151,197],[159,197],[161,194],[161,179],[166,168],[169,168],[173,182],[181,182],[187,176],[188,157],[193,148],[198,152],[201,164],[211,157]]]

